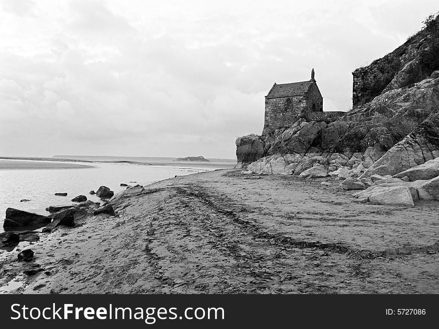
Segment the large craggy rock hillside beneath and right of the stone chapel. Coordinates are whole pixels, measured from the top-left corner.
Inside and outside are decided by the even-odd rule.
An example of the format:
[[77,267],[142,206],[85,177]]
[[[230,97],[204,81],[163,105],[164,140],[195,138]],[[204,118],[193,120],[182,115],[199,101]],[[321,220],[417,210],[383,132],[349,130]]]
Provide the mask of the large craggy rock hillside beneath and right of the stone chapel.
[[[344,178],[358,177],[370,185],[371,176],[395,175],[438,158],[438,40],[436,17],[393,57],[360,69],[366,79],[363,87],[356,85],[356,71],[354,93],[363,94],[354,94],[356,107],[334,122],[299,116],[290,127],[238,138],[236,168],[248,174],[305,172],[302,177],[316,171],[309,170],[312,167],[330,175],[343,168]],[[374,84],[377,91],[364,94]]]

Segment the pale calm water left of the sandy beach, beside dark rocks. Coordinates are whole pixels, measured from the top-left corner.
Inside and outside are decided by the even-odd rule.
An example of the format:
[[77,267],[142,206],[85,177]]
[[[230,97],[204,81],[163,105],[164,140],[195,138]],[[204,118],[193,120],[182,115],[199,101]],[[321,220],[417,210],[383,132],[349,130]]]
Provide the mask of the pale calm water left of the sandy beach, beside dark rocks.
[[[77,195],[100,202],[91,190],[97,191],[105,185],[117,192],[128,185],[147,185],[149,183],[195,172],[230,168],[231,163],[173,163],[157,165],[136,165],[130,163],[80,163],[92,165],[82,168],[53,168],[54,162],[19,160],[1,160],[0,165],[0,231],[6,208],[12,207],[41,215],[48,215],[46,207],[56,204],[70,204]],[[18,164],[18,165],[17,165]],[[65,166],[65,163],[59,163]],[[49,167],[49,168],[46,168]],[[67,192],[67,196],[57,196],[57,192]],[[29,201],[20,202],[22,199]]]

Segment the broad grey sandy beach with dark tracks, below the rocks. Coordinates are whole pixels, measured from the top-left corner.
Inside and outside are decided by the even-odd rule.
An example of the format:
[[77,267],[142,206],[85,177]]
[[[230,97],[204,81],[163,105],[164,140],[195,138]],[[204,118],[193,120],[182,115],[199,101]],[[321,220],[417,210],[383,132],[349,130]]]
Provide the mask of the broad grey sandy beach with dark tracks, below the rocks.
[[[0,286],[19,282],[14,293],[439,293],[439,202],[358,203],[337,184],[236,170],[163,180],[114,203],[119,217],[41,235],[27,246],[33,262],[19,263],[16,249],[3,252]],[[39,272],[24,275],[29,268]]]

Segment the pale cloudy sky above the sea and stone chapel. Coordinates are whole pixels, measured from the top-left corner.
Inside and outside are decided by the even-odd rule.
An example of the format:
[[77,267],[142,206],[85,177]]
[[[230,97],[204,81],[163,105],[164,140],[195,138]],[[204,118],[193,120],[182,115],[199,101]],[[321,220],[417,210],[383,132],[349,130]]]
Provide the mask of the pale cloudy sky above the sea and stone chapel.
[[437,0],[0,0],[0,156],[234,158],[274,82],[352,107],[352,71]]

